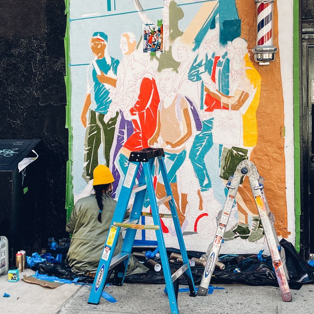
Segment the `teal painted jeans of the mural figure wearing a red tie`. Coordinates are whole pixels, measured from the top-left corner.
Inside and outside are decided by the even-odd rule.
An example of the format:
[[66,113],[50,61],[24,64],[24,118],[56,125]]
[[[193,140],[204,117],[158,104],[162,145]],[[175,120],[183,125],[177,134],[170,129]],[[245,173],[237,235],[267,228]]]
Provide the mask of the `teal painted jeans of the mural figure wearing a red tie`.
[[208,191],[212,187],[205,165],[205,156],[213,146],[213,120],[202,121],[202,132],[197,134],[191,147],[189,158],[198,178],[201,191]]

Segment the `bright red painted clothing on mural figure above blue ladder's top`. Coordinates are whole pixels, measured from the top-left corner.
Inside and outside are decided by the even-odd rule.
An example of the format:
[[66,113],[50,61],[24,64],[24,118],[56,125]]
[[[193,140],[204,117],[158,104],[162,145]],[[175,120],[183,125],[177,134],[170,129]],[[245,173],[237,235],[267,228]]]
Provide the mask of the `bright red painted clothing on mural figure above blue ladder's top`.
[[149,147],[148,140],[153,136],[157,125],[158,104],[159,94],[154,78],[143,78],[138,100],[130,109],[131,115],[134,116],[134,132],[123,147],[130,151]]

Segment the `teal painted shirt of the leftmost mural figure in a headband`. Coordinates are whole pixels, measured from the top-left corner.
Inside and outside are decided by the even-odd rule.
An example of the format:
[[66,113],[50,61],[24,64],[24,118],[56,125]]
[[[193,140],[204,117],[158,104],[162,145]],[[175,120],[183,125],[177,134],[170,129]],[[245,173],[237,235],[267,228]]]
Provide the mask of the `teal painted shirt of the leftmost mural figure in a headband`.
[[96,59],[94,62],[96,62],[98,69],[95,69],[95,64],[94,62],[92,63],[93,65],[92,76],[93,76],[93,82],[94,82],[94,99],[96,102],[95,111],[102,113],[104,115],[107,114],[112,100],[109,95],[110,89],[106,87],[106,84],[102,84],[99,82],[97,78],[97,72],[99,72],[100,70],[104,74],[109,75],[108,74],[109,71],[112,70],[113,74],[116,76],[117,67],[119,65],[119,60],[113,57],[110,57],[110,59],[111,59],[111,64],[107,63],[106,58]]

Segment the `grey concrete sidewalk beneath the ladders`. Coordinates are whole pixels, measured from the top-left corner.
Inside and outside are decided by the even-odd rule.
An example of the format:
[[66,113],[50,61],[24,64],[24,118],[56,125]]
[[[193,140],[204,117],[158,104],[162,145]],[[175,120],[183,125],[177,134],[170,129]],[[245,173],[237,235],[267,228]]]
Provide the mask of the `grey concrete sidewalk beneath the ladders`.
[[[27,268],[20,273],[30,276],[35,272]],[[291,290],[292,301],[283,302],[279,288],[270,286],[247,286],[242,284],[213,285],[205,297],[190,297],[189,292],[179,292],[178,308],[181,314],[290,314],[314,313],[314,285],[303,285],[300,290]],[[180,286],[183,288],[184,286]],[[62,284],[47,288],[23,280],[8,282],[8,276],[0,277],[0,313],[19,312],[36,314],[167,314],[171,313],[168,296],[161,284],[123,284],[122,287],[106,286],[105,291],[117,302],[101,298],[98,305],[87,304],[90,286]],[[4,293],[10,297],[2,297]]]

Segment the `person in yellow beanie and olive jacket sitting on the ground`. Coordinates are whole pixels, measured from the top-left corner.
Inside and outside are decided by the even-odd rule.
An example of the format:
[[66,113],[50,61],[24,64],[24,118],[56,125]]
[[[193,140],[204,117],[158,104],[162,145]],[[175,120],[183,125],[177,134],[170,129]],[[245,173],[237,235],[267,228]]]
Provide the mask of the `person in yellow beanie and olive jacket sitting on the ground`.
[[[66,225],[66,231],[72,234],[66,262],[74,273],[91,277],[95,277],[117,203],[110,195],[114,178],[109,168],[98,165],[93,175],[95,194],[75,203]],[[121,252],[122,244],[120,233],[114,255]],[[126,276],[147,271],[148,268],[130,256]]]

